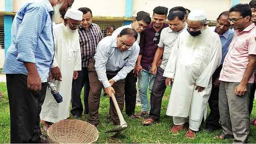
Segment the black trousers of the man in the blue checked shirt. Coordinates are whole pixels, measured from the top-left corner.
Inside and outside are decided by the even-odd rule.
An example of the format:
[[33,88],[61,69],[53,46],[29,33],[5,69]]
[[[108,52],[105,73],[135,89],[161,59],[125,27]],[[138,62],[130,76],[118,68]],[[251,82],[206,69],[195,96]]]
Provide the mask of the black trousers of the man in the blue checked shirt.
[[6,84],[10,105],[10,142],[40,142],[40,112],[46,94],[46,82],[42,90],[34,92],[28,89],[27,76],[24,74],[6,74]]

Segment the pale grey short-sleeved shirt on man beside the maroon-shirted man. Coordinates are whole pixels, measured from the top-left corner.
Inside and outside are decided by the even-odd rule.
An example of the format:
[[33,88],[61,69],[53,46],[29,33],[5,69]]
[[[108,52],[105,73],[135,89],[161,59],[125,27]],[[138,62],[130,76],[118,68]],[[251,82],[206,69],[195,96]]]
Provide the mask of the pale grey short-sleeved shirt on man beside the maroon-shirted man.
[[164,28],[160,35],[160,41],[158,46],[164,48],[164,53],[162,57],[162,64],[160,67],[165,70],[170,54],[172,52],[172,47],[174,46],[175,41],[177,40],[179,34],[186,30],[186,26],[180,32],[174,32],[170,27]]

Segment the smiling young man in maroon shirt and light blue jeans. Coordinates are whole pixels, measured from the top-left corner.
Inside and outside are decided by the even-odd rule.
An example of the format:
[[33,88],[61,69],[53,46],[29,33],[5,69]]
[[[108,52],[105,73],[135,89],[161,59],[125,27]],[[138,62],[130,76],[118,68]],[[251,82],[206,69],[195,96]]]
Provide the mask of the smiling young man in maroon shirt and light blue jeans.
[[[136,74],[139,76],[138,86],[139,94],[141,99],[142,110],[136,115],[136,117],[142,117],[148,114],[148,83],[149,91],[151,93],[152,86],[154,83],[154,76],[151,74],[151,64],[154,59],[154,54],[158,48],[160,33],[163,28],[168,27],[168,24],[164,23],[166,21],[166,16],[168,13],[168,8],[163,6],[158,6],[153,10],[153,22],[151,22],[146,30],[140,34],[140,54],[135,66]],[[162,60],[159,60],[157,66],[160,66]],[[150,110],[150,106],[149,106]]]

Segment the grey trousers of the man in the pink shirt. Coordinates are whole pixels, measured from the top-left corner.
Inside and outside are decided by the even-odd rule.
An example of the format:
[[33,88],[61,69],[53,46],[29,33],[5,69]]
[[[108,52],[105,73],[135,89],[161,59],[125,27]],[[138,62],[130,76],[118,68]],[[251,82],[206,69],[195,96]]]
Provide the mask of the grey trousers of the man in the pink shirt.
[[219,110],[222,136],[234,136],[233,143],[246,143],[250,133],[249,101],[252,84],[247,84],[247,92],[243,96],[235,94],[238,82],[220,82]]

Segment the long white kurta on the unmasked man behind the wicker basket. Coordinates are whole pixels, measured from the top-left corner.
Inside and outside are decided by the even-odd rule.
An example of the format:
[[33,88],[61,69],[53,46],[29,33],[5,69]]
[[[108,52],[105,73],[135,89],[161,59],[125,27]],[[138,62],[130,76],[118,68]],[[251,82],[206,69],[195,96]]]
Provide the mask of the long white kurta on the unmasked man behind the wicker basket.
[[47,122],[58,122],[69,117],[73,72],[82,68],[79,34],[76,31],[72,38],[68,38],[64,30],[64,23],[53,27],[55,55],[52,66],[58,66],[62,74],[62,82],[56,80],[54,83],[62,95],[63,102],[58,104],[49,90],[46,91],[40,118]]

